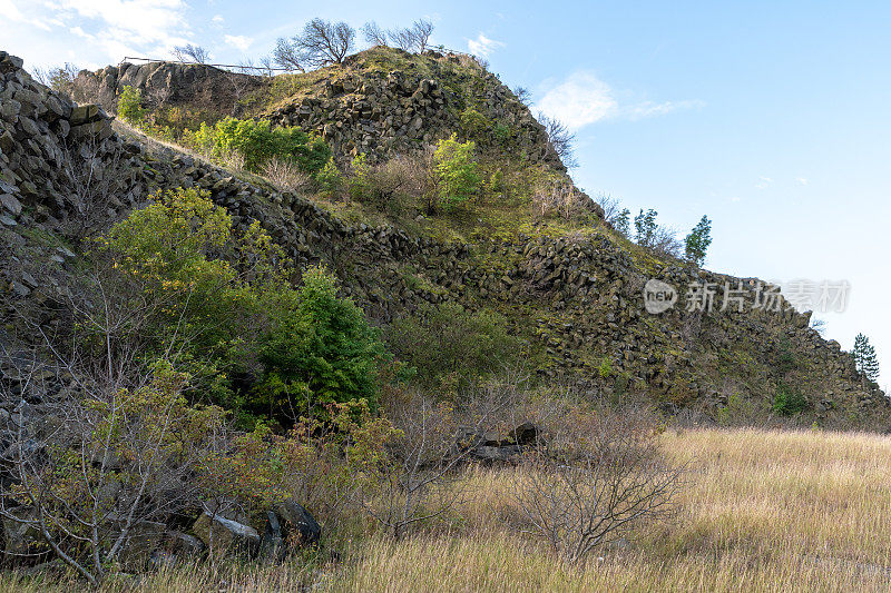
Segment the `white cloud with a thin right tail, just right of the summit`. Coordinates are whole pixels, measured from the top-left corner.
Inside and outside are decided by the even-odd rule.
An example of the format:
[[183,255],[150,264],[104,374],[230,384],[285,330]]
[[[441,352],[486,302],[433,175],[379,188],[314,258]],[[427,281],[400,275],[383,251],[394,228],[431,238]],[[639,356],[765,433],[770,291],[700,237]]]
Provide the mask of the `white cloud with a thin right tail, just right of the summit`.
[[636,121],[664,116],[681,109],[703,107],[699,100],[683,101],[619,101],[617,92],[593,72],[579,71],[551,86],[537,107],[572,130],[607,119]]

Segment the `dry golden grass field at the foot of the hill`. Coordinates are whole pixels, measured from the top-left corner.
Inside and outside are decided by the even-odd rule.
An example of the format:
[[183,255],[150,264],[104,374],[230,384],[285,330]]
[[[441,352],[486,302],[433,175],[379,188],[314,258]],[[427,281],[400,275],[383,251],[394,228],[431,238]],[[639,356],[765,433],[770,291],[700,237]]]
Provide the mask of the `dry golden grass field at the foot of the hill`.
[[[199,565],[107,591],[891,591],[891,437],[668,431],[687,463],[674,517],[568,565],[522,533],[512,470],[474,470],[460,513],[394,543],[340,543],[334,563]],[[70,591],[7,575],[0,592]]]

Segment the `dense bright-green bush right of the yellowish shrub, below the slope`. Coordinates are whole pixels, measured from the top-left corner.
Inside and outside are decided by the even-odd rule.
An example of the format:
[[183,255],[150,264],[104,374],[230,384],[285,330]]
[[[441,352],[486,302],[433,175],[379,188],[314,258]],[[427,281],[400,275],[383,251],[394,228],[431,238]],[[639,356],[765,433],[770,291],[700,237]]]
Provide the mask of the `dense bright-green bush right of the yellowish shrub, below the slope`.
[[283,307],[260,348],[264,376],[254,402],[292,422],[320,406],[378,402],[384,347],[352,300],[337,297],[334,276],[311,268],[293,307]]

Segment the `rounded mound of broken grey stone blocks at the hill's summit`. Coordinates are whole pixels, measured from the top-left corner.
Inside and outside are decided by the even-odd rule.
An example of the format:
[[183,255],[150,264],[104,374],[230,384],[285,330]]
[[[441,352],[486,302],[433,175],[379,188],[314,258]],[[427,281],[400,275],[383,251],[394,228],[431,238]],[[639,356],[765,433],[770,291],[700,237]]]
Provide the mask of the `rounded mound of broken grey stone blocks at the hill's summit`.
[[[391,50],[398,51],[398,50]],[[448,71],[467,57],[428,52],[433,72]],[[531,162],[545,162],[565,171],[560,158],[548,144],[545,128],[536,121],[505,85],[479,69],[468,95],[454,92],[424,73],[351,71],[322,80],[301,98],[276,107],[264,117],[281,126],[300,126],[327,140],[337,152],[364,154],[372,160],[431,145],[462,128],[461,115],[468,110],[501,126],[499,141],[511,152]]]

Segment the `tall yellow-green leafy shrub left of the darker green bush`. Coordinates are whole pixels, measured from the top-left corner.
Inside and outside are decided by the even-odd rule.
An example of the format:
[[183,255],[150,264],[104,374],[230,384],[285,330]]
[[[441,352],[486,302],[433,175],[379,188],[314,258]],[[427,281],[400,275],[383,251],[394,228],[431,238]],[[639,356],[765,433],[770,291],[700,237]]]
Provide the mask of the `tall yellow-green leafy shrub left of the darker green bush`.
[[[251,283],[272,278],[282,259],[258,223],[235,236],[226,209],[194,188],[156,194],[115,225],[100,248],[144,286],[156,309],[149,334],[178,335],[203,352],[237,334],[243,316],[234,312],[256,300]],[[256,260],[249,277],[229,261],[242,257]]]

